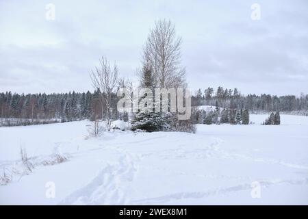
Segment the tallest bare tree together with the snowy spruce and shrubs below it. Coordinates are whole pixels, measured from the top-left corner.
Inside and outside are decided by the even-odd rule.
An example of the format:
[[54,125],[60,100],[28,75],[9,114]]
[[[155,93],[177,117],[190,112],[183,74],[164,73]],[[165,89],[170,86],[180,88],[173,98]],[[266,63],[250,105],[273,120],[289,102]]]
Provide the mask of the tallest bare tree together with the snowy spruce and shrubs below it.
[[[157,21],[151,29],[144,45],[139,79],[140,88],[149,88],[153,94],[155,88],[186,88],[185,68],[181,66],[181,38],[177,37],[175,25],[170,21]],[[147,98],[153,99],[153,106],[148,106],[149,111],[133,114],[132,130],[196,131],[191,120],[178,120],[178,112],[155,112],[157,100],[154,95]],[[170,108],[170,102],[163,104]]]

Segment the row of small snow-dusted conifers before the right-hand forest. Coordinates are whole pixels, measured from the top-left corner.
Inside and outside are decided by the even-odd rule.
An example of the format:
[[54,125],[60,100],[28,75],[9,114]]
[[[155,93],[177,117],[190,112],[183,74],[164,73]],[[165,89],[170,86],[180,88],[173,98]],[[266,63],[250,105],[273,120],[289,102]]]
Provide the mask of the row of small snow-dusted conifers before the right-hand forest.
[[223,124],[229,123],[231,125],[236,124],[249,124],[249,112],[247,109],[223,109],[219,110],[195,110],[192,115],[193,123],[197,124]]

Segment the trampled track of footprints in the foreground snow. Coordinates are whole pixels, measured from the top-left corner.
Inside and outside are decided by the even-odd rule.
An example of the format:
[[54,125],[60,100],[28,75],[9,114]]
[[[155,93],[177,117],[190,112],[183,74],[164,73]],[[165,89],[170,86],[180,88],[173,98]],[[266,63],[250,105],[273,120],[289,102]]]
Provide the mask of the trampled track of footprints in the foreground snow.
[[118,151],[117,164],[107,164],[90,183],[73,192],[60,205],[125,205],[129,202],[127,190],[138,170],[138,157]]

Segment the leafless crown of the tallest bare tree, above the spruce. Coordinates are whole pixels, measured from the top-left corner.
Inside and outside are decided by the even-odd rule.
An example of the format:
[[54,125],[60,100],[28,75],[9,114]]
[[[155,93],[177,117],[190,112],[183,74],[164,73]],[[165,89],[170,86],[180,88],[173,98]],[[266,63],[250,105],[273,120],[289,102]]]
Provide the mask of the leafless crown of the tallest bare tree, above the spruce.
[[181,66],[181,38],[171,21],[159,20],[151,29],[143,51],[143,66],[151,65],[156,88],[185,86],[185,68]]

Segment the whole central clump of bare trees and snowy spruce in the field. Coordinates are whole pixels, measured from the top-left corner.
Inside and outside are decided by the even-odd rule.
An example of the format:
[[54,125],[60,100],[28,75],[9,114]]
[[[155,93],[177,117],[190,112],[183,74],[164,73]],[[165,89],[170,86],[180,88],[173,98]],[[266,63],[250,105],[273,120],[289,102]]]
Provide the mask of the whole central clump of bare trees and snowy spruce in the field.
[[[155,23],[144,45],[142,53],[142,68],[138,72],[140,79],[139,88],[147,88],[154,93],[155,88],[185,88],[185,68],[181,66],[181,38],[175,33],[175,25],[170,21],[161,20]],[[178,120],[178,112],[155,112],[155,100],[153,96],[141,96],[138,100],[133,97],[131,81],[125,78],[118,78],[118,68],[116,64],[110,65],[105,57],[101,59],[99,67],[92,70],[90,74],[92,85],[100,89],[99,100],[103,105],[102,114],[105,115],[105,130],[110,130],[112,120],[112,95],[118,88],[125,88],[125,96],[128,99],[128,112],[123,112],[118,117],[127,122],[131,118],[131,129],[143,131],[190,131],[194,132],[194,125],[191,120]],[[133,110],[135,101],[142,102],[142,99],[153,99],[153,105],[146,107],[149,110],[143,112]],[[158,101],[158,100],[156,100]],[[170,100],[168,100],[170,101]],[[163,103],[166,104],[166,103]],[[170,108],[170,103],[167,103]],[[126,105],[126,103],[125,103]],[[97,130],[97,118],[94,118],[94,130]],[[96,125],[95,125],[96,124]]]

